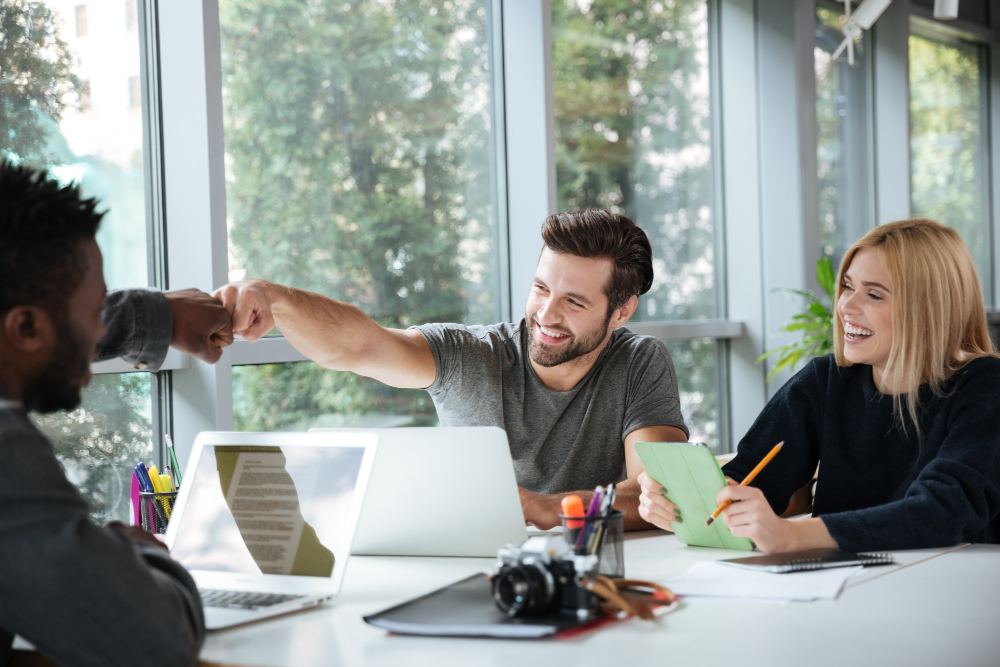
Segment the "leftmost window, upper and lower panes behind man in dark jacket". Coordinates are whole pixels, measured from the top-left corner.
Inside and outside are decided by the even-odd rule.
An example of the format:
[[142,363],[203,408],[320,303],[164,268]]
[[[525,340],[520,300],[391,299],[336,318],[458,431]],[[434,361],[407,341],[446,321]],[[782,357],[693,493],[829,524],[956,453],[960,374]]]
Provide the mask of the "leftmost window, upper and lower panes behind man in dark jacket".
[[[6,36],[26,48],[17,62],[2,60],[8,52],[0,48],[0,87],[11,89],[4,79],[19,77],[14,90],[37,113],[3,117],[8,130],[0,133],[0,155],[47,168],[97,197],[107,210],[97,241],[109,288],[148,285],[143,122],[118,92],[139,71],[138,35],[119,26],[78,49],[72,36],[87,35],[86,5],[34,1],[5,12]],[[32,39],[21,39],[29,31]],[[138,76],[132,78],[138,86]],[[127,517],[130,470],[153,455],[154,384],[146,373],[97,375],[78,410],[36,420],[96,520]]]

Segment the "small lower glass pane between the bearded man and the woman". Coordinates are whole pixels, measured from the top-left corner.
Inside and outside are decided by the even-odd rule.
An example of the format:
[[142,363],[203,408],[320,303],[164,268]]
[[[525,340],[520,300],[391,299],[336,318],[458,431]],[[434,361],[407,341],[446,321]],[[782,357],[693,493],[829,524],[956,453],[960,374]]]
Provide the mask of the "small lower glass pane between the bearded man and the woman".
[[721,454],[719,441],[719,395],[716,382],[713,338],[663,341],[674,360],[681,395],[681,413],[691,430],[691,442],[707,443]]

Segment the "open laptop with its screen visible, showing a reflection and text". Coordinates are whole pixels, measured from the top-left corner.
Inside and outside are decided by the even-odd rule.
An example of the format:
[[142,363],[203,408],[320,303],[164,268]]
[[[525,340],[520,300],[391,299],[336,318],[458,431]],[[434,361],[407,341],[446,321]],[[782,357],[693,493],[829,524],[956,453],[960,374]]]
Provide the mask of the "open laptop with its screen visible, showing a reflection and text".
[[204,432],[165,542],[210,630],[316,606],[340,591],[374,433]]

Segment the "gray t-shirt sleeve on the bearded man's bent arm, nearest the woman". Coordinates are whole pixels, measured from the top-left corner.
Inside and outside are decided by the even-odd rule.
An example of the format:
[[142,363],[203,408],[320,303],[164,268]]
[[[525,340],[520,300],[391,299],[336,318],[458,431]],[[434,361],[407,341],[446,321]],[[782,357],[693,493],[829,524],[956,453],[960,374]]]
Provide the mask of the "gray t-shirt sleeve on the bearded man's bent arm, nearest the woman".
[[643,343],[629,368],[622,441],[632,431],[649,426],[673,426],[690,436],[681,414],[677,375],[667,346],[655,339]]

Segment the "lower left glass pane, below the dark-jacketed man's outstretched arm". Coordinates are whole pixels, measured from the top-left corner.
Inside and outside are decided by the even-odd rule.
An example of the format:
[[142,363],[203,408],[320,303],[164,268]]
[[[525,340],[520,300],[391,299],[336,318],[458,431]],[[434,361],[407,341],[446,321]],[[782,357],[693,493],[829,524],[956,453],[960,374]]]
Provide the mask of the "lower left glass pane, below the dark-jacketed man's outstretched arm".
[[130,523],[132,467],[153,459],[152,382],[148,373],[95,375],[79,408],[32,417],[98,523]]

